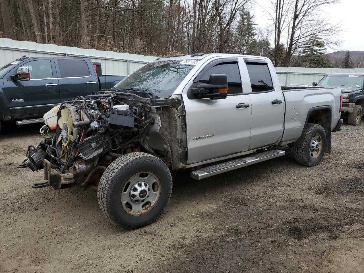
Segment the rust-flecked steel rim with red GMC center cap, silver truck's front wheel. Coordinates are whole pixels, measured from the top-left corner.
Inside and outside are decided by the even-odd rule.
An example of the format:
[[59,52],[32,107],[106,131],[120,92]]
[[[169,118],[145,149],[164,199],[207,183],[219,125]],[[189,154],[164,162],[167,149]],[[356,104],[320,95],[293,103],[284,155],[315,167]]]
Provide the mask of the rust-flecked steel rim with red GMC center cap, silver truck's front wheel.
[[161,182],[157,175],[142,171],[128,179],[121,193],[121,204],[126,213],[140,216],[148,213],[161,196]]

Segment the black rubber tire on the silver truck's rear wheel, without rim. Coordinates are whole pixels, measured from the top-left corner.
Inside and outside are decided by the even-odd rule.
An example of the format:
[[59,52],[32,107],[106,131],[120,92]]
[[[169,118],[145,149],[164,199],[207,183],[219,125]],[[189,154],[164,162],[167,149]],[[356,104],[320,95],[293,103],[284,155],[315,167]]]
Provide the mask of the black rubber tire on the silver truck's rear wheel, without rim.
[[[314,137],[320,137],[321,149],[317,157],[312,156],[312,141]],[[294,159],[297,163],[305,166],[316,166],[320,163],[325,153],[326,133],[324,127],[318,124],[308,123],[299,146],[294,147]]]

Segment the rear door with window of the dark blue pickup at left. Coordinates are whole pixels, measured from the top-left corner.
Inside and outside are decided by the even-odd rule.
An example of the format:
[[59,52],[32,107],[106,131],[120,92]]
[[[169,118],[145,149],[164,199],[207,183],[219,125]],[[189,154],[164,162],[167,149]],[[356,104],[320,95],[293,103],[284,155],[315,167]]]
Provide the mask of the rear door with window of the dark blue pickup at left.
[[57,58],[55,63],[62,102],[99,91],[95,69],[90,67],[86,60]]

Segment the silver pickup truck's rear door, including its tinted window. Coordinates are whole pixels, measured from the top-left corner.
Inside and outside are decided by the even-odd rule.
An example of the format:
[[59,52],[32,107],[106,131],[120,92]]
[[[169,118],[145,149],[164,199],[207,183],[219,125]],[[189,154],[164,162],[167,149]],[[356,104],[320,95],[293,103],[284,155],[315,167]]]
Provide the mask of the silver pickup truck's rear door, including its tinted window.
[[273,86],[268,62],[247,58],[244,61],[250,79],[252,125],[249,150],[252,150],[280,141],[284,123],[284,97],[281,88],[275,89]]

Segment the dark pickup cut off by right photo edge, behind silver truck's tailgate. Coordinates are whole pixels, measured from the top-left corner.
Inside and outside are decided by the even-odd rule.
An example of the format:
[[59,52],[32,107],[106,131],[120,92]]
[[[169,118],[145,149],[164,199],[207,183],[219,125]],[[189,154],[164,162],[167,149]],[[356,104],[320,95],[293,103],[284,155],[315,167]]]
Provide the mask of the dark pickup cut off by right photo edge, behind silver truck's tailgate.
[[358,125],[364,109],[364,73],[329,74],[313,86],[340,87],[343,96],[342,112],[347,114],[348,124]]

